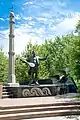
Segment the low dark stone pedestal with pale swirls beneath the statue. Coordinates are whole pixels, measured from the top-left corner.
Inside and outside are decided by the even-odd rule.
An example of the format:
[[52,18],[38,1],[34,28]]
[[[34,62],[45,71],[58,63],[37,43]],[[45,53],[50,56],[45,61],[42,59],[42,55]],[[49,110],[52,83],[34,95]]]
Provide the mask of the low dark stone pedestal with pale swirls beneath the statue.
[[20,85],[19,87],[9,86],[7,89],[13,98],[27,98],[27,97],[44,97],[44,96],[57,95],[61,92],[60,89],[58,90],[60,86],[61,85],[58,84],[48,84],[48,85],[45,84],[45,85],[32,85],[32,86]]

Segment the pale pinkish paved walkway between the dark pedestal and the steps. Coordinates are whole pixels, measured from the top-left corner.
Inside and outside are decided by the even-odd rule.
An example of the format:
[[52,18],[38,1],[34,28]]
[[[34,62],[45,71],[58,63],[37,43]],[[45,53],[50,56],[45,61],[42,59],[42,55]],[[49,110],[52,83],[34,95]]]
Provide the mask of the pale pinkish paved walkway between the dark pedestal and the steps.
[[31,97],[31,98],[6,98],[0,99],[0,106],[20,106],[20,105],[38,105],[38,104],[52,104],[57,102],[66,102],[66,101],[76,101],[80,98],[71,98],[73,94],[64,95],[64,96],[50,96],[50,97]]

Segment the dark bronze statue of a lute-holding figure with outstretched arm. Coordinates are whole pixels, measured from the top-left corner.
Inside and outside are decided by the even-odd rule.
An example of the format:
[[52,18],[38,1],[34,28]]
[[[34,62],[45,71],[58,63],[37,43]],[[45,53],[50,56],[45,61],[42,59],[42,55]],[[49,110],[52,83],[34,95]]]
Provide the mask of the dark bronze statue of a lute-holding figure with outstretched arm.
[[32,55],[29,56],[28,60],[22,60],[20,59],[23,63],[29,64],[29,70],[28,70],[28,75],[31,77],[31,81],[29,82],[29,85],[31,85],[33,82],[35,82],[36,85],[39,85],[38,83],[38,68],[40,64],[40,60],[46,60],[46,57],[39,57],[36,56],[35,51],[32,51]]

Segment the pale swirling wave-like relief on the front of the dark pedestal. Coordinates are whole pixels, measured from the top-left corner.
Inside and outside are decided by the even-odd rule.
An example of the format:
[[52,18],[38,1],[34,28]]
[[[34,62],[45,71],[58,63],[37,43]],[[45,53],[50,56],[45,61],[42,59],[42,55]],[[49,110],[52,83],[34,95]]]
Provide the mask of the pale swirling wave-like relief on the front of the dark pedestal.
[[28,97],[28,96],[48,96],[52,95],[50,92],[50,89],[47,87],[44,88],[31,88],[29,89],[23,89],[22,90],[22,95],[23,97]]

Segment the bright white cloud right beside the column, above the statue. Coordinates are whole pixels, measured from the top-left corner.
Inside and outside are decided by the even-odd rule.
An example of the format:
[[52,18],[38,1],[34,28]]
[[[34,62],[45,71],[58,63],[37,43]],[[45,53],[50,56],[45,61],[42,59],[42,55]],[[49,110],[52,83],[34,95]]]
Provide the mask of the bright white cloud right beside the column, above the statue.
[[15,29],[15,52],[16,54],[21,53],[25,46],[29,41],[31,41],[32,44],[35,44],[36,42],[38,44],[41,44],[41,39],[37,37],[35,34],[28,34],[30,29],[26,27],[26,25],[22,25]]

